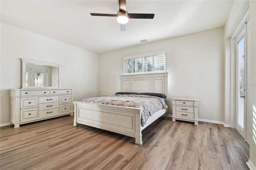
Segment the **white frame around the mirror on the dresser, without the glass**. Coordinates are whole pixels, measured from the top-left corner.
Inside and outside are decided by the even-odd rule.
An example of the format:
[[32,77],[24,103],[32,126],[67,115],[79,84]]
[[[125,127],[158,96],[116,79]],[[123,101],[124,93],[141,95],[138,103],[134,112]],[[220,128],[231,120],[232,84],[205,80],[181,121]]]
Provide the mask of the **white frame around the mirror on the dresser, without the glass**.
[[[41,89],[41,88],[61,88],[60,87],[60,68],[62,65],[56,64],[56,63],[48,63],[44,61],[37,61],[33,59],[26,59],[22,58],[22,89]],[[58,67],[58,87],[52,87],[52,86],[47,86],[47,87],[26,87],[26,63],[33,63],[33,64],[38,64],[38,65],[47,65],[47,66],[52,66],[52,67]]]

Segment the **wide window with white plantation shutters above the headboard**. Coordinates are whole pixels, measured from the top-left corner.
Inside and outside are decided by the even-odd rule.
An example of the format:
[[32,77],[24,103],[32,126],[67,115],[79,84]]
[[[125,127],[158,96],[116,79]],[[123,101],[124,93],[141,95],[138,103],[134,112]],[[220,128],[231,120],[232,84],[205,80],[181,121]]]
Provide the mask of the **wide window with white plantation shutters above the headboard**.
[[124,57],[124,74],[166,71],[166,51]]

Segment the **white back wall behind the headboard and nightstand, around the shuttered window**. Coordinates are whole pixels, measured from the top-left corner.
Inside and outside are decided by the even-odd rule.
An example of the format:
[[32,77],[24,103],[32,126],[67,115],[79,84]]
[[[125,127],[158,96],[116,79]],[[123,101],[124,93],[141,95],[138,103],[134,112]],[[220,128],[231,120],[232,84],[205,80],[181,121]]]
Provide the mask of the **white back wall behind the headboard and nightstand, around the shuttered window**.
[[167,50],[168,101],[198,98],[199,119],[223,122],[224,28],[99,54],[99,95],[120,91],[123,57],[163,49]]

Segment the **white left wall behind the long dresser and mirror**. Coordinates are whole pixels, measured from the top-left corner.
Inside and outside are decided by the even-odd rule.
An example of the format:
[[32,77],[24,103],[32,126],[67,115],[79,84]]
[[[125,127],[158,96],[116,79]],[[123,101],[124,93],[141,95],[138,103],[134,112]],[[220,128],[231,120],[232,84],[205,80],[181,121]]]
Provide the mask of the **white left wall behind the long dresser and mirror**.
[[61,86],[74,101],[98,96],[98,54],[1,22],[0,123],[10,122],[10,89],[21,88],[20,58],[61,64]]

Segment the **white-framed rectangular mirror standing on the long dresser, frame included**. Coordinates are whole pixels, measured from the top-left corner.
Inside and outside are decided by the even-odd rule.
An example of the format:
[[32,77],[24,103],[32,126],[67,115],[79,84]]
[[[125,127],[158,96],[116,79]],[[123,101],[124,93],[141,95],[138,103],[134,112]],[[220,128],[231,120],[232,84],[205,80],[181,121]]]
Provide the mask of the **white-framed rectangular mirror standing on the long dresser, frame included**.
[[60,88],[60,67],[22,58],[22,88]]

